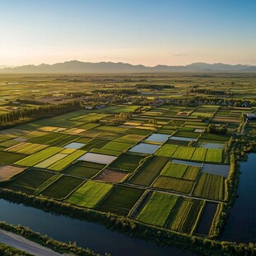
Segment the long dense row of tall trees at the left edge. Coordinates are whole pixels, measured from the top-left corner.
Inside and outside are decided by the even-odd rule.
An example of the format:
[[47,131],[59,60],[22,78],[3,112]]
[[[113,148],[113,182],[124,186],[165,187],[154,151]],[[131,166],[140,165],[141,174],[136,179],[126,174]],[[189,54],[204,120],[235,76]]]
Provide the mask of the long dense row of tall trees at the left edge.
[[40,107],[24,107],[0,115],[0,124],[8,124],[26,118],[41,118],[50,115],[60,115],[67,111],[74,111],[81,108],[78,101],[61,103],[56,105],[44,105]]

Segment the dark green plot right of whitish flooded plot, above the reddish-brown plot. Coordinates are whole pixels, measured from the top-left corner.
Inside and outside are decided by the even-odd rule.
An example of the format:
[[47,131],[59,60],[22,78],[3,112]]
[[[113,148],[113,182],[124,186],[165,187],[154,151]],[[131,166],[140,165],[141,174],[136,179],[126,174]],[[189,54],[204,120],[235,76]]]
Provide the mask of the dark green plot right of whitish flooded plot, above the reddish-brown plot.
[[110,168],[132,173],[143,159],[145,159],[145,157],[142,155],[124,153],[121,154],[113,163],[111,163]]

